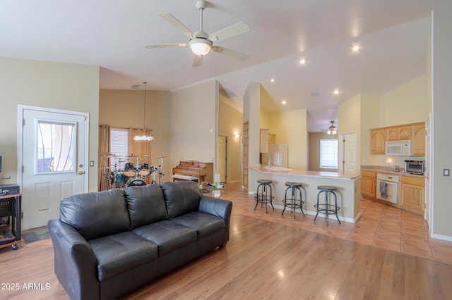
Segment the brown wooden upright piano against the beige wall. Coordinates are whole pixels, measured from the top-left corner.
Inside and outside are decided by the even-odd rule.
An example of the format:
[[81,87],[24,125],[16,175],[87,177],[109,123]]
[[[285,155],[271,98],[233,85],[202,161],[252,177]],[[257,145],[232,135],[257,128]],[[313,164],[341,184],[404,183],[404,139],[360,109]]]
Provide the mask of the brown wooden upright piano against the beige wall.
[[199,183],[213,182],[213,163],[198,161],[180,161],[176,168],[172,168],[172,180],[192,180]]

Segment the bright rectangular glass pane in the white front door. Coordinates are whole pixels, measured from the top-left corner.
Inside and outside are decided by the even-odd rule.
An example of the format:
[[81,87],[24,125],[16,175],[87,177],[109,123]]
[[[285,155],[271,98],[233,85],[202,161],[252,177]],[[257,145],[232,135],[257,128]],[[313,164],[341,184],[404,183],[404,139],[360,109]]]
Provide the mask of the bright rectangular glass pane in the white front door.
[[74,171],[75,123],[37,120],[37,173]]

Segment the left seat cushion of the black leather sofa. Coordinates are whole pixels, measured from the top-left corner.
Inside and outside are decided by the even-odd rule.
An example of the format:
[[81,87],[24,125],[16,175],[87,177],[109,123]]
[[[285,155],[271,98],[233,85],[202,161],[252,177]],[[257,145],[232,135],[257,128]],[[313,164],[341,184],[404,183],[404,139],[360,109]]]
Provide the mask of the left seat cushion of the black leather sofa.
[[156,244],[130,231],[91,239],[88,244],[97,258],[99,281],[153,261],[158,254]]

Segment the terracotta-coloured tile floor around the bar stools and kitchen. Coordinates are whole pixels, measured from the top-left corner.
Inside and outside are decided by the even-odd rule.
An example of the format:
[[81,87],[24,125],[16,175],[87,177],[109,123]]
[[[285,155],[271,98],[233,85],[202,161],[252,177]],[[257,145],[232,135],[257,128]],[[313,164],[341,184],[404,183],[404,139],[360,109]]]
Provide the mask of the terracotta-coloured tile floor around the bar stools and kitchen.
[[266,213],[265,207],[258,206],[254,211],[256,205],[254,195],[248,194],[239,183],[227,185],[222,199],[234,202],[233,214],[262,218],[318,232],[322,235],[349,239],[362,244],[452,264],[452,242],[429,238],[427,223],[422,215],[376,201],[361,199],[362,217],[357,223],[343,222],[339,224],[338,220],[333,217],[330,218],[329,226],[326,226],[324,218],[317,218],[314,221],[314,215],[303,217],[299,211],[297,211],[295,220],[290,211],[286,210],[284,215],[281,215],[282,211],[278,208],[275,208],[275,211],[270,208]]

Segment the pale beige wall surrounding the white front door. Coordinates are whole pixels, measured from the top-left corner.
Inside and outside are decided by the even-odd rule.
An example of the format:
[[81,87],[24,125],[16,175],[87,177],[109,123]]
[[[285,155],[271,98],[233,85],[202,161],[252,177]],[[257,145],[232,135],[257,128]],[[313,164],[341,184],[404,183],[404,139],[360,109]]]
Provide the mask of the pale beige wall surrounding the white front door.
[[97,190],[99,67],[0,58],[0,155],[5,177],[0,184],[18,182],[18,104],[89,113],[88,189]]

